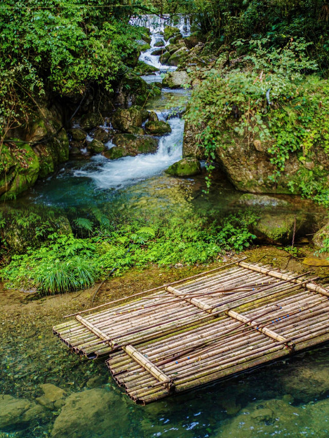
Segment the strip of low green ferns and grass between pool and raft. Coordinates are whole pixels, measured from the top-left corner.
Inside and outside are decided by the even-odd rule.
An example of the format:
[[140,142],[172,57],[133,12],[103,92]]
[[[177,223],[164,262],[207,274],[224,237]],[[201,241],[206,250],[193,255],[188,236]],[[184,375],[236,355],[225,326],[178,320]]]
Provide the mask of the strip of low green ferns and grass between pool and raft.
[[[25,226],[33,220],[35,216],[25,216]],[[53,228],[38,249],[13,255],[1,275],[8,287],[56,293],[88,287],[106,278],[113,268],[120,274],[132,266],[150,263],[204,263],[225,251],[242,251],[249,246],[255,236],[248,226],[254,220],[252,213],[230,215],[221,222],[192,213],[168,222],[142,217],[113,221],[103,215],[78,218],[72,223],[75,235],[59,234]],[[49,221],[43,232],[46,230],[49,232]]]

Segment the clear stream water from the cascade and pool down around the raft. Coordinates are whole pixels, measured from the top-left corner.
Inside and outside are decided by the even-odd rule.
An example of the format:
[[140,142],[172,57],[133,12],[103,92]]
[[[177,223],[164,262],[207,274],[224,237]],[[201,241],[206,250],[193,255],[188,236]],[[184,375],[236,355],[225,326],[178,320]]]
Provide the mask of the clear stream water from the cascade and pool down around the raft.
[[[178,25],[188,34],[187,20],[181,20]],[[160,36],[159,29],[154,28],[152,43]],[[158,63],[150,59],[149,53],[142,54],[141,59]],[[160,81],[161,77],[145,80]],[[113,161],[95,155],[88,160],[70,161],[56,175],[39,182],[10,205],[56,207],[64,212],[74,209],[80,216],[93,207],[107,214],[124,211],[149,220],[169,214],[181,216],[187,211],[199,215],[211,211],[225,217],[228,212],[243,210],[246,207],[237,203],[241,193],[234,190],[219,170],[208,195],[204,194],[204,173],[179,179],[163,172],[181,157],[184,120],[172,117],[171,113],[172,108],[184,107],[188,98],[187,90],[162,89],[161,96],[148,103],[147,109],[155,111],[160,120],[168,120],[172,128],[171,134],[159,139],[156,154]],[[310,201],[281,198],[289,199],[293,205],[289,210],[323,214]],[[145,275],[145,272],[128,273],[114,279],[111,287],[125,295]],[[164,273],[154,268],[148,275],[151,284],[155,278],[159,282],[159,276],[163,276],[163,282],[176,279],[174,268]],[[79,358],[52,335],[51,328],[61,321],[62,315],[87,307],[92,293],[85,291],[81,295],[73,293],[38,301],[27,301],[22,294],[17,297],[15,291],[2,293],[0,438],[320,438],[329,435],[327,346],[244,373],[225,383],[145,407],[136,406],[115,385],[104,359]],[[54,385],[57,390],[40,386],[44,384]],[[9,396],[23,402],[15,402]]]

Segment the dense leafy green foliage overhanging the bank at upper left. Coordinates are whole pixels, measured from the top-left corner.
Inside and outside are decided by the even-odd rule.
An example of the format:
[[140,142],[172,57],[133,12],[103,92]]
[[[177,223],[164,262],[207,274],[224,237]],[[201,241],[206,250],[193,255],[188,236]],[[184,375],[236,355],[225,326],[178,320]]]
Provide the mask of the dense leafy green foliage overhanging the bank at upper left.
[[111,90],[140,37],[140,30],[128,24],[136,9],[119,3],[1,3],[0,118],[7,119],[7,127],[19,125],[50,91],[82,95],[93,83]]

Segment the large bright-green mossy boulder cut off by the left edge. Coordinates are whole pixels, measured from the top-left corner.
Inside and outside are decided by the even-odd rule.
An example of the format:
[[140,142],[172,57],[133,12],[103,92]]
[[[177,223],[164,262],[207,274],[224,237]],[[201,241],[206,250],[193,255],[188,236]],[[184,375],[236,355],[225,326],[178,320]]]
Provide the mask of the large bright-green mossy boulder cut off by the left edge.
[[27,143],[5,142],[1,150],[0,199],[12,199],[38,178],[40,162],[38,155]]

